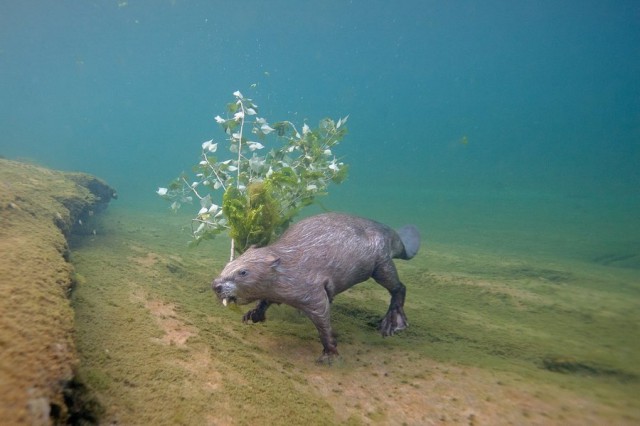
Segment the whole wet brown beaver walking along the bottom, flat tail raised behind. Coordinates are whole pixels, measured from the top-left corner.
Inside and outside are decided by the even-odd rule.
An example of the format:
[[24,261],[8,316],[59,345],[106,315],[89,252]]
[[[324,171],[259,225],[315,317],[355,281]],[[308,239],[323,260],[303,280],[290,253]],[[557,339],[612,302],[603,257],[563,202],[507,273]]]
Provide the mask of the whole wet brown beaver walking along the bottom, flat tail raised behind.
[[379,324],[382,336],[408,326],[403,309],[406,288],[392,259],[411,259],[419,248],[420,234],[413,225],[394,231],[370,219],[319,214],[295,223],[273,244],[249,248],[229,262],[211,286],[224,306],[258,300],[243,316],[245,323],[264,321],[273,303],[302,311],[320,334],[323,352],[318,361],[330,363],[338,355],[331,302],[355,284],[373,278],[391,294]]

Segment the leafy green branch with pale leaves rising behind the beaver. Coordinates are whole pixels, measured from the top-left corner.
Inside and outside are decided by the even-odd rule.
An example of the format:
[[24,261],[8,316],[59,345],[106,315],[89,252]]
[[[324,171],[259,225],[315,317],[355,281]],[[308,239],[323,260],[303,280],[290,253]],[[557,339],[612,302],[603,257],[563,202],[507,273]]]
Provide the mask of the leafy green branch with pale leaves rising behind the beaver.
[[[205,141],[201,160],[193,167],[195,179],[183,173],[156,191],[172,202],[174,211],[195,197],[201,208],[192,220],[193,241],[228,230],[231,258],[251,245],[266,245],[303,207],[326,193],[330,183],[344,181],[348,170],[333,153],[347,133],[348,116],[337,122],[325,118],[315,129],[305,123],[298,131],[290,121],[270,124],[258,115],[258,105],[239,91],[233,96],[227,105],[229,118],[215,117],[231,158],[219,160],[214,156],[218,143]],[[271,149],[260,155],[268,146]],[[218,190],[223,192],[222,208],[219,201],[214,203]]]

